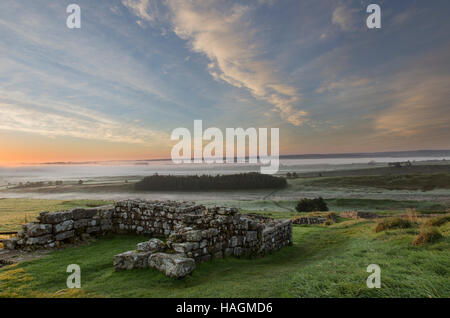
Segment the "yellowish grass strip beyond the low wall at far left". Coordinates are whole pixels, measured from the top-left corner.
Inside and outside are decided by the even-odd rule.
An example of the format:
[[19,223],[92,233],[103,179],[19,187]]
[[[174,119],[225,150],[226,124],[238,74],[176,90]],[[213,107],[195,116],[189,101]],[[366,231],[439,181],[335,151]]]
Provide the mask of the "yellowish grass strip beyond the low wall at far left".
[[42,211],[61,211],[76,207],[108,204],[99,200],[0,199],[0,232],[16,231]]

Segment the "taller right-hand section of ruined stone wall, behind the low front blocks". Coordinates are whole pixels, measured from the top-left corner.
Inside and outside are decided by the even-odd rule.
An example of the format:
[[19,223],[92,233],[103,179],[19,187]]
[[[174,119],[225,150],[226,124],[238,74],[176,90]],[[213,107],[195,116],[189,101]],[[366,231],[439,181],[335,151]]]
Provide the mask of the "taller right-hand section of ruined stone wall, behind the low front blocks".
[[292,222],[242,216],[234,208],[189,203],[122,201],[113,215],[116,232],[167,237],[167,246],[196,262],[274,252],[292,243]]

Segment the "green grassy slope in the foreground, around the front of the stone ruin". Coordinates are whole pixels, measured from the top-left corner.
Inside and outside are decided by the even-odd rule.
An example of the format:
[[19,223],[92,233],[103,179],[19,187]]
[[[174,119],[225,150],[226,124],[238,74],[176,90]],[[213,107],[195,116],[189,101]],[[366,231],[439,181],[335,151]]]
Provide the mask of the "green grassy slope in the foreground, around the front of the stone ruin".
[[[415,247],[417,229],[374,233],[371,221],[294,227],[294,245],[256,259],[198,265],[174,280],[153,269],[114,272],[113,255],[143,237],[111,236],[0,269],[0,296],[32,297],[450,297],[450,225],[439,242]],[[67,290],[68,264],[82,289]],[[366,287],[366,267],[381,266],[382,288]]]

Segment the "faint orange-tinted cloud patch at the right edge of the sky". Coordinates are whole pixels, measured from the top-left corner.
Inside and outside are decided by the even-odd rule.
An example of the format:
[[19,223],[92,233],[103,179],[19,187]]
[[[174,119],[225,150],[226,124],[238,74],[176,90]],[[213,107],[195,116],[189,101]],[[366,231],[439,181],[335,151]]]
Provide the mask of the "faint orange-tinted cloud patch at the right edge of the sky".
[[450,140],[449,53],[447,46],[414,59],[394,78],[392,106],[374,120],[379,134]]

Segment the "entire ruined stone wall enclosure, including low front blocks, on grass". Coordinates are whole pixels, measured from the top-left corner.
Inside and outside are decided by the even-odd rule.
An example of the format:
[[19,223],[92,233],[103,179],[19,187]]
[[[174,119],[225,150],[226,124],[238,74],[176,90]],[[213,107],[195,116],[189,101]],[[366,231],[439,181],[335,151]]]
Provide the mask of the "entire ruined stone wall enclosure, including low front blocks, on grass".
[[292,244],[292,221],[241,215],[235,208],[192,202],[126,200],[113,206],[42,212],[23,225],[7,249],[53,248],[91,235],[135,233],[153,237],[113,258],[115,270],[152,267],[184,277],[196,263],[229,256],[263,256]]

